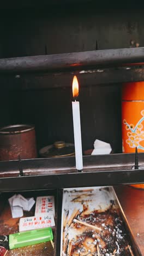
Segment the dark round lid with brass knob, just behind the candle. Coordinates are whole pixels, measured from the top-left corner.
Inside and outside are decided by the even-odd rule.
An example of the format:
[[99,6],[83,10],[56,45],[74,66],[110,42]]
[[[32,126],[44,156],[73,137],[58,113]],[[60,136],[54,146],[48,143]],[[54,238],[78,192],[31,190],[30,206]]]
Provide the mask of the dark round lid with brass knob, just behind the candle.
[[75,155],[75,147],[72,143],[57,141],[52,145],[46,146],[39,150],[40,156],[43,158],[61,158],[63,156]]

